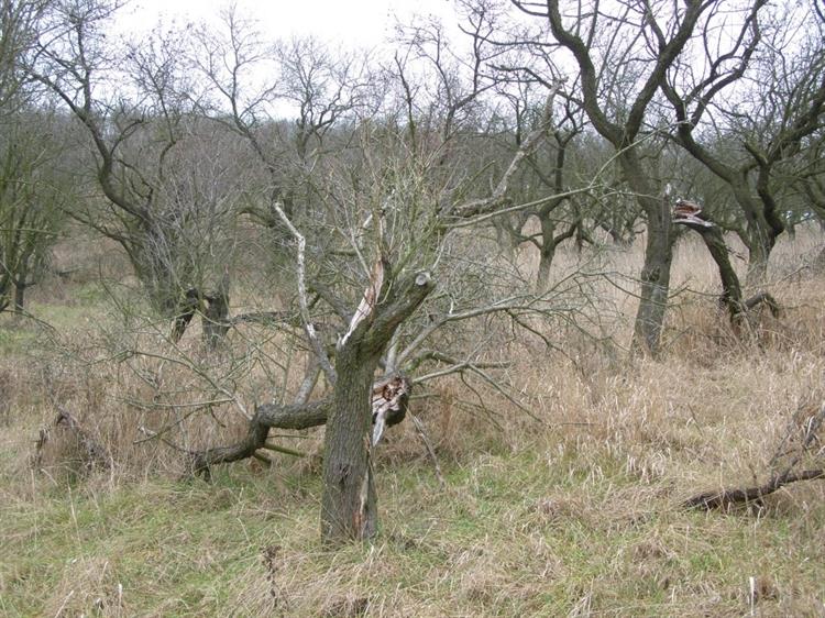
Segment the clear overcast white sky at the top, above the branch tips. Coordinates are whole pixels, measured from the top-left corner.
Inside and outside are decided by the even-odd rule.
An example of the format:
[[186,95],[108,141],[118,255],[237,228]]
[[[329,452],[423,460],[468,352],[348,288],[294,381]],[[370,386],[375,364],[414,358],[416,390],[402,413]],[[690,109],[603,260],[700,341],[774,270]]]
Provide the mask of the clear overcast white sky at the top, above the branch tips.
[[[319,38],[360,47],[381,44],[393,32],[396,19],[409,22],[413,14],[436,14],[454,22],[450,0],[237,0],[244,16],[261,22],[271,38],[314,34]],[[229,0],[133,0],[122,13],[120,26],[140,34],[158,21],[211,20]]]

